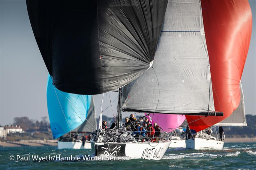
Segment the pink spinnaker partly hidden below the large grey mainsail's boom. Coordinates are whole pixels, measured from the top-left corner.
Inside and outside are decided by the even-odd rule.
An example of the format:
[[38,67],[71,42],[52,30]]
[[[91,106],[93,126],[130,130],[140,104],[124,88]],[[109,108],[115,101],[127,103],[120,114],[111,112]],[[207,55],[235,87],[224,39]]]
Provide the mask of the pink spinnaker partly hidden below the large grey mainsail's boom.
[[[145,113],[147,115],[148,113]],[[170,132],[172,129],[180,127],[180,125],[185,121],[185,115],[169,115],[169,114],[150,114],[147,116],[149,121],[152,123],[157,123],[158,126],[163,128],[164,131]]]

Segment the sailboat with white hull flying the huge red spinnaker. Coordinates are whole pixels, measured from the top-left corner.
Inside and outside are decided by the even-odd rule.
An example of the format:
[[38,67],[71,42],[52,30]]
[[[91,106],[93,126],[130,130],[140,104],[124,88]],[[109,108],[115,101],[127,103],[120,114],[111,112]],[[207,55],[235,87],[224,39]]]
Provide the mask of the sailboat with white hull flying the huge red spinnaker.
[[[222,121],[229,122],[237,115],[236,112],[244,116],[244,111],[241,111],[244,110],[244,99],[240,81],[250,44],[252,13],[248,1],[201,0],[201,3],[214,106],[224,116],[210,118],[186,115],[190,129],[197,132],[197,136],[188,139],[186,145],[192,149],[222,149],[223,141],[200,131]],[[245,119],[241,120],[237,125],[244,125]]]

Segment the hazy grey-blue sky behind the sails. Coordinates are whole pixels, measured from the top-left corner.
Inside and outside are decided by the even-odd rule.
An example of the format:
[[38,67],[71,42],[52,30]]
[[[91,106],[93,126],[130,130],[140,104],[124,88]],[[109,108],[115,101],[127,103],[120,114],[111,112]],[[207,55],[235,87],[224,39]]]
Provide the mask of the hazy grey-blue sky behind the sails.
[[[252,38],[242,76],[246,114],[256,114],[256,1],[252,9]],[[48,116],[46,83],[48,71],[37,47],[28,18],[25,0],[0,0],[0,124],[14,117],[40,120]],[[108,95],[107,95],[108,96]],[[111,101],[117,93],[111,92]],[[98,113],[101,95],[95,96]],[[106,99],[106,95],[104,96]],[[109,97],[108,97],[109,98]],[[109,104],[109,100],[108,100]],[[113,104],[116,114],[117,100]],[[103,109],[107,102],[104,101]],[[111,107],[104,113],[112,116]],[[123,113],[124,116],[129,113]]]

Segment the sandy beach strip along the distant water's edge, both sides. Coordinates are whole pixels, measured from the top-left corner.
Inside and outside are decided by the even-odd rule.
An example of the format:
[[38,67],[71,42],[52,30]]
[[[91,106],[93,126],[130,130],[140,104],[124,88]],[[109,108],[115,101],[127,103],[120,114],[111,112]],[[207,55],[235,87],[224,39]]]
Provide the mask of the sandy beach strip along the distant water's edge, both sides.
[[[252,143],[256,137],[226,138],[224,143]],[[21,140],[20,142],[0,142],[0,147],[22,147],[22,146],[58,146],[57,140]]]

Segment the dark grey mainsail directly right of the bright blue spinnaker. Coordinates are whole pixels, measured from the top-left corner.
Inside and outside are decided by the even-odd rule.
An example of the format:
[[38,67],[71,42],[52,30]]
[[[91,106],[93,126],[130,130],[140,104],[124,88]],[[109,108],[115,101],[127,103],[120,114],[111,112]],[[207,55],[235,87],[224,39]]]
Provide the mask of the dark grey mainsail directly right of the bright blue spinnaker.
[[82,133],[82,132],[91,132],[91,130],[96,130],[96,129],[97,129],[96,112],[94,107],[94,99],[92,96],[87,118],[80,126],[78,126],[75,129],[75,131]]

